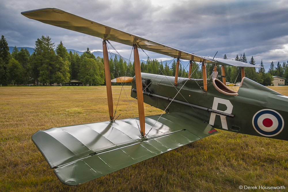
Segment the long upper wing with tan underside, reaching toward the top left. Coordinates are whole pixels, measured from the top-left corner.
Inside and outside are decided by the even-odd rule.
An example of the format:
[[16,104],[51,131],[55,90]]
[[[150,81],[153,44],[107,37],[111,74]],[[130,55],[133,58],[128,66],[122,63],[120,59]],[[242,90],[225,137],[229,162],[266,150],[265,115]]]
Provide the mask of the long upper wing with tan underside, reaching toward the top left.
[[[136,43],[140,45],[142,49],[174,58],[192,60],[196,62],[206,62],[209,60],[208,58],[181,51],[173,47],[157,43],[155,41],[150,41],[138,35],[126,33],[124,31],[111,28],[109,26],[73,15],[71,13],[67,13],[56,8],[37,9],[22,12],[21,14],[30,19],[34,19],[46,24],[85,33],[95,37],[100,37],[109,41],[115,41],[130,46],[132,46],[133,43]],[[214,62],[213,60],[210,61]]]

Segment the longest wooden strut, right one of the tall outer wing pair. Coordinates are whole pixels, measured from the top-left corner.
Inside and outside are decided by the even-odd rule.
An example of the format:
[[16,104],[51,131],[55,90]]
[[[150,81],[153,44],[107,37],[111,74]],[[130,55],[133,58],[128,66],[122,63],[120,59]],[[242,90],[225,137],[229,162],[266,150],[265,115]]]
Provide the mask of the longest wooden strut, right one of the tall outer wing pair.
[[137,45],[134,44],[134,69],[135,69],[135,80],[137,91],[137,101],[138,101],[138,111],[139,111],[139,121],[140,121],[140,132],[141,136],[145,136],[145,113],[144,113],[144,101],[143,101],[143,89],[142,89],[142,79],[141,79],[141,68],[140,59]]

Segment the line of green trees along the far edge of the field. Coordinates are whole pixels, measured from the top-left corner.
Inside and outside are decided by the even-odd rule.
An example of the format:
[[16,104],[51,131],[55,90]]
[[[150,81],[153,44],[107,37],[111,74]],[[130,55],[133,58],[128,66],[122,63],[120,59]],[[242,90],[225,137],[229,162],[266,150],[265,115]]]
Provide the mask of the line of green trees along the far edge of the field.
[[[68,83],[72,79],[77,79],[82,83],[90,85],[105,85],[104,61],[99,56],[96,58],[87,48],[87,50],[79,55],[77,52],[67,52],[62,41],[54,48],[49,36],[42,36],[35,41],[34,52],[30,55],[27,49],[15,46],[10,54],[9,47],[4,36],[0,40],[0,83],[7,84],[26,84],[35,83],[37,85],[51,85],[53,83]],[[226,54],[223,57],[227,59]],[[240,57],[237,55],[235,60],[247,62],[245,53]],[[250,64],[255,65],[253,56]],[[287,61],[288,63],[288,61]],[[288,64],[278,64],[276,67],[271,62],[270,69],[265,72],[264,68],[256,71],[255,67],[245,67],[245,76],[262,85],[271,85],[272,76],[288,78]],[[196,62],[192,63],[192,76],[194,79],[202,79],[202,68]],[[176,61],[163,63],[157,59],[151,60],[149,57],[146,62],[141,62],[141,72],[160,74],[167,76],[175,76]],[[186,66],[185,66],[186,65]],[[260,66],[264,66],[261,61]],[[134,62],[128,64],[123,58],[115,57],[109,59],[111,79],[128,76],[134,77]],[[207,77],[211,76],[214,66],[207,64]],[[180,62],[178,77],[188,77],[189,64]],[[221,67],[217,66],[218,75],[221,75]],[[241,81],[241,68],[236,66],[225,66],[226,81],[231,83]],[[221,80],[221,77],[218,76]],[[287,83],[287,82],[286,82]],[[120,83],[112,83],[118,85]],[[126,83],[131,84],[131,83]]]

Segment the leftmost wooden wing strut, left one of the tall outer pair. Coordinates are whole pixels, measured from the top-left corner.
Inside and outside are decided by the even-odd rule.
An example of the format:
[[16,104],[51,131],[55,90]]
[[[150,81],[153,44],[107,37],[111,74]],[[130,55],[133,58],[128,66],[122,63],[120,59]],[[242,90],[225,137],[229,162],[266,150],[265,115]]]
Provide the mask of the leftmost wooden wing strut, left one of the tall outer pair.
[[112,121],[113,117],[114,117],[114,115],[113,115],[113,98],[112,98],[112,89],[111,89],[109,58],[108,58],[107,44],[106,44],[105,40],[103,40],[103,60],[104,60],[104,71],[105,71],[109,116],[110,116],[110,120]]

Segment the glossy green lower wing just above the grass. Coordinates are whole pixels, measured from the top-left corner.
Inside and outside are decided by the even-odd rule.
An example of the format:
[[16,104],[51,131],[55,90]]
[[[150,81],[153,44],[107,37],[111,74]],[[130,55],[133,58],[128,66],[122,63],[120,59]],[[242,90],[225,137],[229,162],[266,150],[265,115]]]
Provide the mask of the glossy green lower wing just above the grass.
[[217,133],[185,113],[159,117],[145,117],[146,134],[154,126],[145,139],[130,118],[40,130],[32,140],[62,183],[78,185]]

